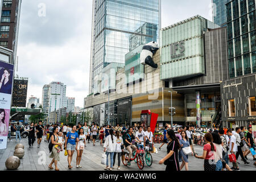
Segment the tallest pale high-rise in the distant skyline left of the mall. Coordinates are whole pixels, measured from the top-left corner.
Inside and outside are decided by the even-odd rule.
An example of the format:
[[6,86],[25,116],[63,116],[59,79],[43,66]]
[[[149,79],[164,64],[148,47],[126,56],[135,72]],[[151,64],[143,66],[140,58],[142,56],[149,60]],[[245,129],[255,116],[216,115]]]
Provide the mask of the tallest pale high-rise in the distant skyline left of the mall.
[[52,81],[49,95],[49,113],[59,108],[67,107],[66,85],[61,82]]

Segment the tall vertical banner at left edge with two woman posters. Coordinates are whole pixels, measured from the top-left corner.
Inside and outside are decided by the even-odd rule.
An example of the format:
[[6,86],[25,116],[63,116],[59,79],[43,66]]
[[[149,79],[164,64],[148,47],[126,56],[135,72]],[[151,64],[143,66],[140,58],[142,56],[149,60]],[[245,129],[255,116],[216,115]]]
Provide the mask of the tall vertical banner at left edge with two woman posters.
[[0,61],[0,149],[7,147],[14,65]]

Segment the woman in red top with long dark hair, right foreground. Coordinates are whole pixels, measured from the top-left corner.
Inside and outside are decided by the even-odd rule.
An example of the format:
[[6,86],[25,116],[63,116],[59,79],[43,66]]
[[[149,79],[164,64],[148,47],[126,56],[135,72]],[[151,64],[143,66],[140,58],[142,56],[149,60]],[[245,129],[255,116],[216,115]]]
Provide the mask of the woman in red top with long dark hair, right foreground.
[[216,146],[214,146],[212,142],[212,134],[205,134],[204,140],[207,144],[204,145],[203,156],[195,155],[195,157],[198,159],[204,159],[204,171],[215,171],[216,163],[214,163],[214,152],[216,152]]

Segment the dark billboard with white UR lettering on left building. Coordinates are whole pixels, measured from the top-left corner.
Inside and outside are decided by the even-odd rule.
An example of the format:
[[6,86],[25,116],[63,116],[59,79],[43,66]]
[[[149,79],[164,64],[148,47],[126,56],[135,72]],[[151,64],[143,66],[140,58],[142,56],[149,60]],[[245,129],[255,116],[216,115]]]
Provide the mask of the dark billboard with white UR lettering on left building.
[[14,79],[13,107],[26,107],[28,80]]

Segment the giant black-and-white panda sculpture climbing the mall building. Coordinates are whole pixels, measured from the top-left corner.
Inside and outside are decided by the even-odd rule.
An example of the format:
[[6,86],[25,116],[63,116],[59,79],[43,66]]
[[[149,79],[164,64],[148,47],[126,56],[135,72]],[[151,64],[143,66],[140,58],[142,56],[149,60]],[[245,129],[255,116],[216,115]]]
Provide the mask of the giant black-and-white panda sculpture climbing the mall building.
[[158,50],[158,43],[152,41],[143,46],[141,51],[141,56],[139,56],[139,60],[141,60],[141,64],[147,64],[152,68],[158,68],[158,64],[155,64],[152,60],[154,53]]

